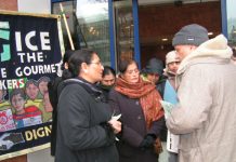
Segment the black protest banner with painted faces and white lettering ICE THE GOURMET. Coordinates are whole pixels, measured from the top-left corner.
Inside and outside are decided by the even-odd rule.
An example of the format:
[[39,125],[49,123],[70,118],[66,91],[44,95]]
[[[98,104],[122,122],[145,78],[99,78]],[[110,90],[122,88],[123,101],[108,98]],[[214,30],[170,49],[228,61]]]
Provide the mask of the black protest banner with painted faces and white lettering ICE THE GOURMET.
[[58,16],[0,12],[0,160],[50,147]]

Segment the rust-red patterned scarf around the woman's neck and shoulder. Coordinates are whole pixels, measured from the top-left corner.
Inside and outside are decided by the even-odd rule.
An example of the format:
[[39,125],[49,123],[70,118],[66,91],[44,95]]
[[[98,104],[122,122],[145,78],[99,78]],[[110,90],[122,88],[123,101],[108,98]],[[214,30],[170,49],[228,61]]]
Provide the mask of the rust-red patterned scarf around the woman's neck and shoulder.
[[159,103],[161,96],[154,84],[143,81],[141,78],[137,83],[129,83],[119,76],[115,90],[130,98],[140,99],[148,130],[154,121],[163,116],[163,109]]

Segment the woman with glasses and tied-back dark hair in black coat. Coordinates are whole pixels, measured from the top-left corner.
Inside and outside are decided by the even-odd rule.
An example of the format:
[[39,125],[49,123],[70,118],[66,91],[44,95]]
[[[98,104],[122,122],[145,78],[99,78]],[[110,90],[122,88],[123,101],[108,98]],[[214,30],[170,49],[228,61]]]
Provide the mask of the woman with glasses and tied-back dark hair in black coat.
[[60,85],[55,162],[118,162],[115,134],[121,123],[95,85],[103,73],[99,55],[75,51],[68,69],[73,79]]

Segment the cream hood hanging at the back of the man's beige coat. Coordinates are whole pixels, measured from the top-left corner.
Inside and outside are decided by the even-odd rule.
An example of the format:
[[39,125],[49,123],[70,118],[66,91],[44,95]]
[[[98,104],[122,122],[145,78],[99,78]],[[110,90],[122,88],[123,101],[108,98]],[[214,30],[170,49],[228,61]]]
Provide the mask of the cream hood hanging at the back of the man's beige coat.
[[[227,39],[219,35],[200,44],[194,52],[188,54],[180,64],[178,76],[182,75],[189,66],[197,63],[226,63],[231,60],[233,52],[227,45]],[[213,59],[212,59],[213,58]]]

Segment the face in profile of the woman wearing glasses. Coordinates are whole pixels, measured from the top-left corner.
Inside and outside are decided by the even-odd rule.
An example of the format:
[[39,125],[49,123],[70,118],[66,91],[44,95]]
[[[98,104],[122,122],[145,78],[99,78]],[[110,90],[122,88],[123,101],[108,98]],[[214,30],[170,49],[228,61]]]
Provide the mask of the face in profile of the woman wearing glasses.
[[100,57],[93,54],[90,64],[82,67],[83,75],[81,77],[91,83],[99,82],[102,80],[103,69]]

